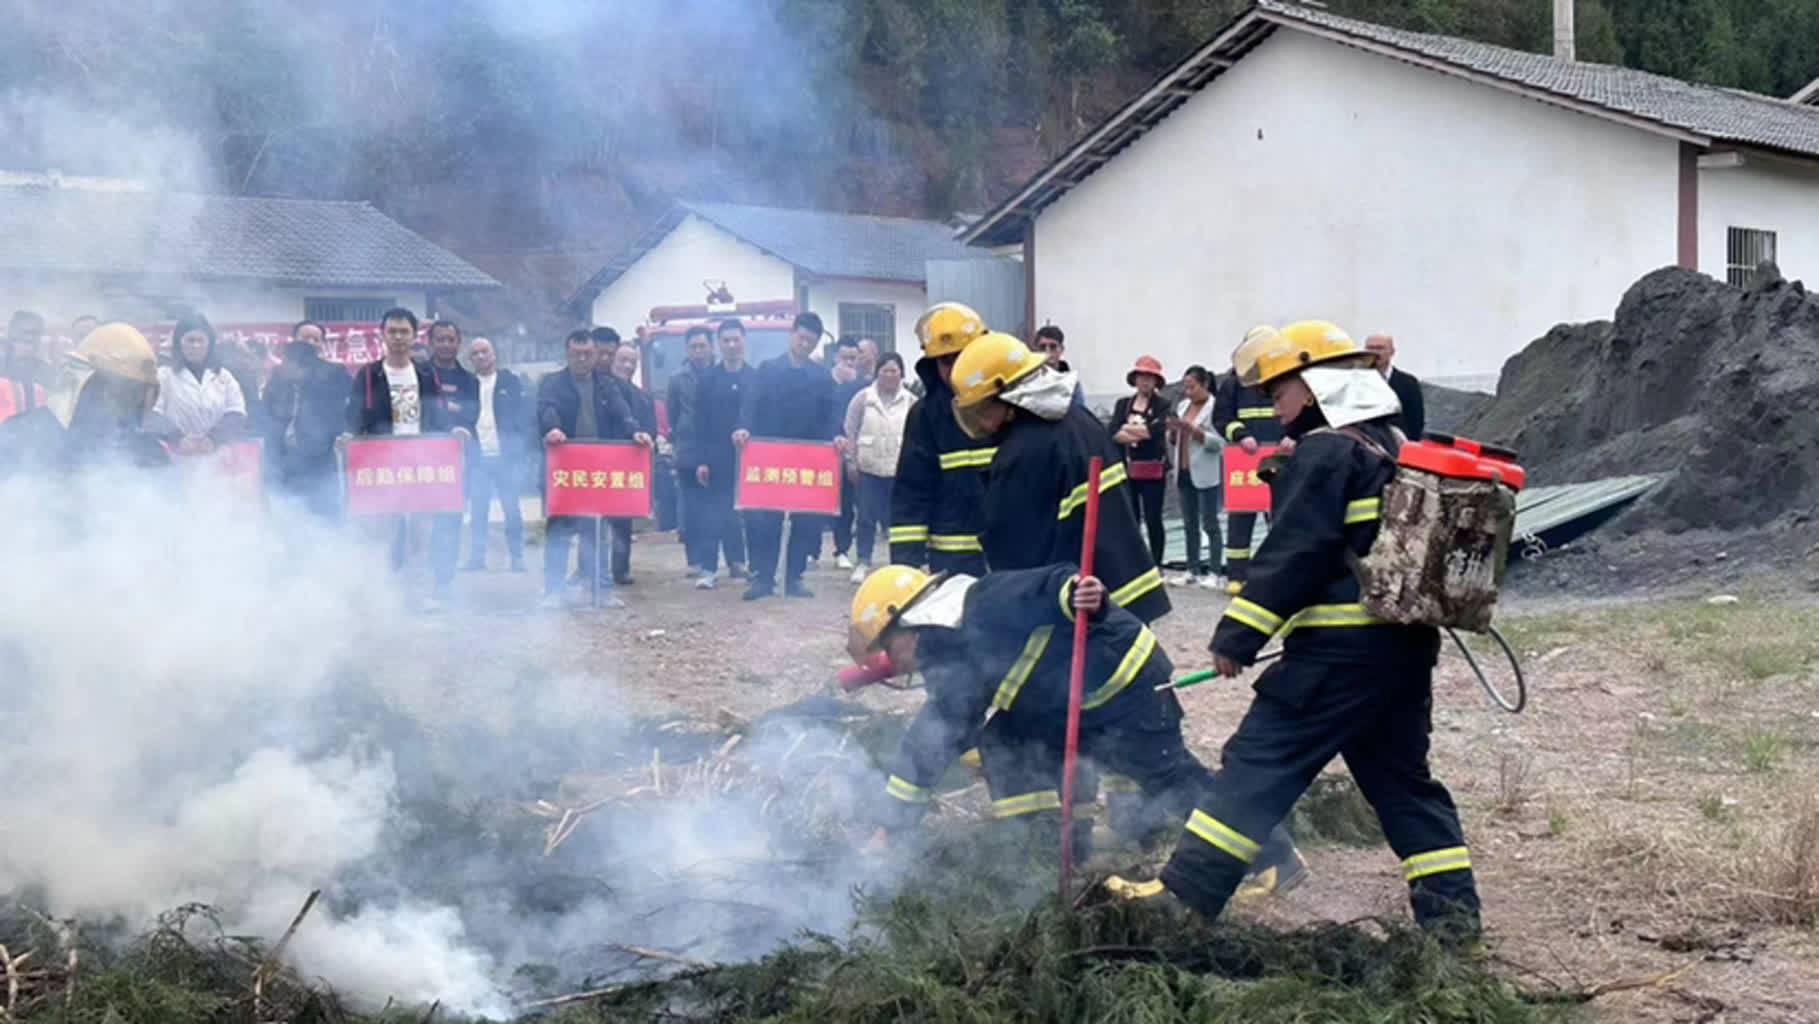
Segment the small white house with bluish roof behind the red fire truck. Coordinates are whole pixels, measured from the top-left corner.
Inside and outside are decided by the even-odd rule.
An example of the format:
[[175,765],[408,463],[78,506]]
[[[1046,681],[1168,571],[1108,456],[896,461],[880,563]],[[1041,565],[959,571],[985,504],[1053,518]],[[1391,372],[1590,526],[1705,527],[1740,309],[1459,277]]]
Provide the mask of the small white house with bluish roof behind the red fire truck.
[[629,336],[653,307],[698,306],[702,282],[715,280],[739,302],[793,300],[835,336],[871,335],[915,351],[928,260],[982,256],[931,220],[678,202],[593,275],[569,311]]

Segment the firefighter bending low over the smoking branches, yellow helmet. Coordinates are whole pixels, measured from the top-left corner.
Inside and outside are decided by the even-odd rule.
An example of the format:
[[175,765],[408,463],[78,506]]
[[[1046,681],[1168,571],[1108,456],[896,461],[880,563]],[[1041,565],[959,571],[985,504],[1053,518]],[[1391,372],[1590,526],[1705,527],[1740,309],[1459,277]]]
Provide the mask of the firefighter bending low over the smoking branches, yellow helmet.
[[[935,784],[979,733],[993,817],[1053,848],[1075,615],[1091,622],[1080,757],[1135,778],[1175,822],[1206,800],[1213,775],[1181,737],[1173,691],[1155,689],[1173,671],[1168,653],[1141,618],[1106,598],[1100,580],[1082,580],[1071,564],[982,578],[888,566],[853,595],[848,653],[864,664],[884,651],[897,673],[922,673],[928,702],[884,784],[884,835],[920,820]],[[979,731],[986,711],[991,720]],[[1251,869],[1295,860],[1293,842],[1277,829]]]

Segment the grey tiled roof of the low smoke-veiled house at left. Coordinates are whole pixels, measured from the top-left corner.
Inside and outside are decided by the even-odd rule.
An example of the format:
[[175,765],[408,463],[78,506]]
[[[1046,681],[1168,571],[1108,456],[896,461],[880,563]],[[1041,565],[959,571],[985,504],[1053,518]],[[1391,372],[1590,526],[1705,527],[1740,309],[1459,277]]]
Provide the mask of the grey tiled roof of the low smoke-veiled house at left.
[[364,202],[40,186],[0,187],[0,269],[498,287]]

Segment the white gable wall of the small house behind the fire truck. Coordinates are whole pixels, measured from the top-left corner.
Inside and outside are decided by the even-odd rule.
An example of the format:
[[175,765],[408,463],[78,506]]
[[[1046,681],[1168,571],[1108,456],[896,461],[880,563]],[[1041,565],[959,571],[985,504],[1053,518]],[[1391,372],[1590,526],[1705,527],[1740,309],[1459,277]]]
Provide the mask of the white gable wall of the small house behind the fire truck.
[[682,218],[662,242],[631,264],[593,300],[593,322],[631,336],[653,306],[700,306],[700,282],[724,280],[739,302],[795,298],[795,269],[695,215]]

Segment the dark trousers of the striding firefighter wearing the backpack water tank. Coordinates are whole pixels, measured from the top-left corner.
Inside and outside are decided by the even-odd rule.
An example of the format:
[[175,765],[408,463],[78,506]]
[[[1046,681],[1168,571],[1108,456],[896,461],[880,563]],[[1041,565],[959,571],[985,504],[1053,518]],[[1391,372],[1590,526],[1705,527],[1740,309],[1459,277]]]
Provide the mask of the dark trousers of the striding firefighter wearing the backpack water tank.
[[1244,873],[1262,860],[1255,837],[1273,835],[1313,777],[1342,755],[1402,858],[1415,920],[1455,939],[1477,935],[1472,857],[1452,795],[1428,773],[1433,669],[1419,664],[1270,666],[1226,740],[1219,784],[1188,817],[1162,882],[1217,917]]

